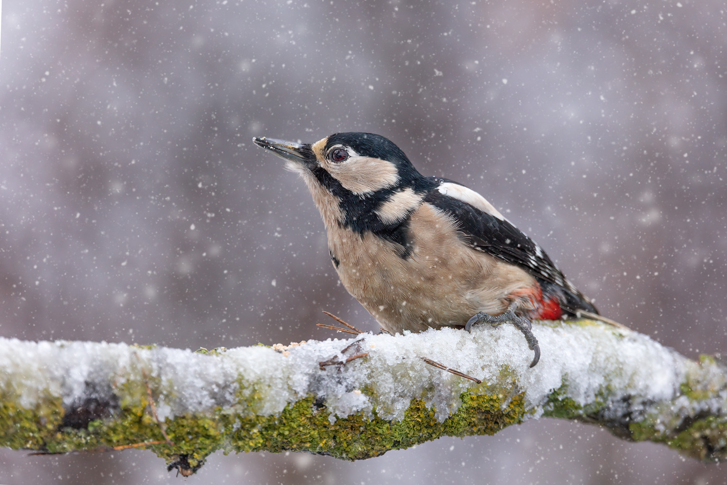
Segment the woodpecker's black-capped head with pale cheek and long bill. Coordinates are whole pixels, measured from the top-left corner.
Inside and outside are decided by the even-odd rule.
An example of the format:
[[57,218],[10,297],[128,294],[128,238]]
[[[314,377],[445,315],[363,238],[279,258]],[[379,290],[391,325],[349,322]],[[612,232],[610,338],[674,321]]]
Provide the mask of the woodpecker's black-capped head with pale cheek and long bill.
[[424,192],[425,177],[381,135],[334,133],[316,143],[254,137],[253,142],[303,176],[326,225],[335,220],[357,231],[375,230],[403,218]]

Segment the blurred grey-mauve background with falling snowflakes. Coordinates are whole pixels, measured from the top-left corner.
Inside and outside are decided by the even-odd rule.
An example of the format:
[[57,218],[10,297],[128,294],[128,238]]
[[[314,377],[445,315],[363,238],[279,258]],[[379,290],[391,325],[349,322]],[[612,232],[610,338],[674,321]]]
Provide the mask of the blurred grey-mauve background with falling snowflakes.
[[[254,135],[385,135],[504,210],[601,311],[727,350],[727,14],[716,0],[5,0],[0,335],[180,348],[377,326],[300,180]],[[363,462],[214,454],[194,484],[717,484],[540,420]],[[29,457],[3,484],[179,483],[150,452]]]

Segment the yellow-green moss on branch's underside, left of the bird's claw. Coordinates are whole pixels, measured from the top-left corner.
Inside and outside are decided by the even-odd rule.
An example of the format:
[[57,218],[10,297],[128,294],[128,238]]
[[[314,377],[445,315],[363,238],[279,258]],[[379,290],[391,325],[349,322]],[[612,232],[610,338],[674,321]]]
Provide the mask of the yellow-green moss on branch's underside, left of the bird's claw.
[[[158,385],[158,382],[155,383]],[[92,420],[82,429],[63,427],[63,407],[49,400],[38,409],[22,409],[12,399],[0,404],[0,445],[14,449],[36,449],[60,453],[107,449],[114,446],[146,445],[168,464],[196,470],[210,453],[312,452],[343,460],[361,460],[401,449],[440,436],[494,434],[522,421],[523,394],[463,393],[462,406],[439,422],[435,409],[413,399],[401,421],[393,422],[364,413],[330,420],[328,409],[316,408],[313,396],[289,404],[278,416],[216,409],[210,414],[185,415],[166,420],[161,426],[148,407],[143,384],[119,389],[119,411],[112,418]],[[251,388],[248,398],[260,398]],[[333,422],[331,422],[333,421]],[[171,442],[171,443],[170,443]],[[182,470],[183,473],[183,470]]]

